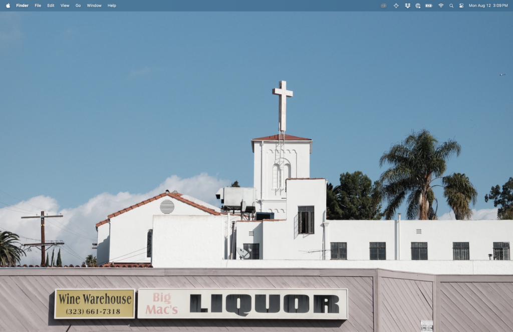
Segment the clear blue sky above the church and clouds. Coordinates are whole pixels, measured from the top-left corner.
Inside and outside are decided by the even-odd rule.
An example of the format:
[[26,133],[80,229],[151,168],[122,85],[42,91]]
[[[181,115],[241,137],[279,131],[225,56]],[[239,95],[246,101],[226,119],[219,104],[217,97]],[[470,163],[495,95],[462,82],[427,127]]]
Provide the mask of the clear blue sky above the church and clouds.
[[383,152],[425,128],[462,145],[447,173],[492,208],[484,195],[513,176],[511,18],[2,13],[0,201],[73,208],[203,172],[252,186],[250,140],[278,132],[271,89],[285,80],[287,133],[313,139],[311,177],[377,180]]

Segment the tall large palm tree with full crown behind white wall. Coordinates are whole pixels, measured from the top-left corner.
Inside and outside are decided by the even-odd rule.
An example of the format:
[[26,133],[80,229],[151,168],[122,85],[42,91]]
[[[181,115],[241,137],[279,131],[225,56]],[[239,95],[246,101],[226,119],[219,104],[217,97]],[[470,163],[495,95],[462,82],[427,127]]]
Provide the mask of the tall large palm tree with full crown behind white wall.
[[436,200],[432,182],[445,172],[447,159],[454,153],[460,155],[460,152],[461,146],[456,141],[438,144],[438,140],[423,129],[412,132],[401,144],[393,145],[383,153],[380,167],[384,163],[392,165],[380,177],[379,199],[387,201],[386,219],[393,218],[405,199],[408,219],[436,219],[436,211],[432,209]]

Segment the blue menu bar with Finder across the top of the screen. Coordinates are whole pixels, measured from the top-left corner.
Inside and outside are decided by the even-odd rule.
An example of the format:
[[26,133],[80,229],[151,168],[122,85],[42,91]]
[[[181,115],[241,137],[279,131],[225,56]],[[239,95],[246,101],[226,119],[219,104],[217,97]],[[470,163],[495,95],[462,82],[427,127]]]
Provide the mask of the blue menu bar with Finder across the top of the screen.
[[[396,3],[348,0],[150,0],[122,2],[11,3],[0,11],[379,11],[379,12],[482,12],[511,11],[513,3]],[[1,3],[0,3],[1,4]]]

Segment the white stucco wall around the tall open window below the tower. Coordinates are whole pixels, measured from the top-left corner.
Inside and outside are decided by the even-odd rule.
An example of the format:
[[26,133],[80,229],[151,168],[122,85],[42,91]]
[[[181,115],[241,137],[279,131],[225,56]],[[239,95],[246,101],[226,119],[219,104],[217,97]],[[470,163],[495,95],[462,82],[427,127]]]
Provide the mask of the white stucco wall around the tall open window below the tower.
[[[314,234],[299,234],[299,206],[314,206]],[[260,251],[264,259],[322,258],[326,180],[287,180],[287,211],[285,221],[263,222],[263,246]]]

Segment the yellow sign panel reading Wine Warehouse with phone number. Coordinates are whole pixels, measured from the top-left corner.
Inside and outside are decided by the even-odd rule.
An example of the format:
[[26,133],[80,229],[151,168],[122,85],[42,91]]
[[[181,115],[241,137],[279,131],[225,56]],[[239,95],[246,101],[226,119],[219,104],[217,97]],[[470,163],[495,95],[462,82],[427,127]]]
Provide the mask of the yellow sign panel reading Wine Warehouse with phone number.
[[135,289],[55,289],[54,318],[135,318]]

